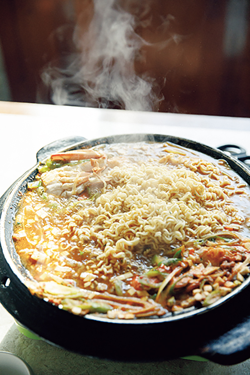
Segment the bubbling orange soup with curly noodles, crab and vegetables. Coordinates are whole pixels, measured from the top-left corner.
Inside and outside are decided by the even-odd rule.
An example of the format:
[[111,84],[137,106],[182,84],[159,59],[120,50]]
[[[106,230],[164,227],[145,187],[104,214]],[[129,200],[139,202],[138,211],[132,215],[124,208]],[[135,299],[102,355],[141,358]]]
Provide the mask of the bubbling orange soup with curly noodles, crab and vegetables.
[[53,154],[13,240],[32,294],[77,315],[209,306],[249,275],[249,187],[224,160],[166,143]]

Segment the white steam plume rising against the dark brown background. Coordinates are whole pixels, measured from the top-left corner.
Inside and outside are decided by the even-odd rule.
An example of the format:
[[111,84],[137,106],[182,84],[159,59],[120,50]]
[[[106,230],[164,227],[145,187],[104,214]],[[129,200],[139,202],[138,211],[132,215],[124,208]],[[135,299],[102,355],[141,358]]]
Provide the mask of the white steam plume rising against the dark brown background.
[[[126,3],[126,2],[125,2]],[[148,1],[144,2],[144,12]],[[48,68],[43,83],[54,104],[84,107],[157,110],[159,88],[148,75],[135,72],[146,45],[136,32],[138,19],[115,0],[94,0],[87,30],[78,24],[73,35],[78,53],[66,69]]]

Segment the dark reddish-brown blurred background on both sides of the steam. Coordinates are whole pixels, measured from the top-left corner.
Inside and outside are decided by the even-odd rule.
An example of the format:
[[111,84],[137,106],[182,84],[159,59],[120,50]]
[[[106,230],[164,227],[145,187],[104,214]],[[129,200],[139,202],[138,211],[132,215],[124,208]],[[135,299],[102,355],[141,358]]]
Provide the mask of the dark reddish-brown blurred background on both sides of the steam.
[[[154,0],[147,15],[142,9],[144,18],[139,1],[119,2],[140,19],[135,31],[147,45],[135,69],[157,81],[164,96],[157,110],[250,117],[248,0]],[[76,24],[87,29],[92,1],[0,5],[0,99],[52,103],[41,74],[49,63],[60,65],[76,52],[73,31]]]

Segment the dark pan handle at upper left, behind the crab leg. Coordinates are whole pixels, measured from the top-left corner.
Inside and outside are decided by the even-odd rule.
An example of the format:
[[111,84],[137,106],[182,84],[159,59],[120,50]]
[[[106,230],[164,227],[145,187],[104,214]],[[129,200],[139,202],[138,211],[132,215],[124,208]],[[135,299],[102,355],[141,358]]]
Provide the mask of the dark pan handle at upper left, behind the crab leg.
[[86,141],[86,138],[80,137],[80,136],[71,136],[66,138],[58,139],[57,141],[51,142],[47,144],[46,146],[40,148],[39,151],[37,151],[36,159],[37,162],[42,161],[43,159],[46,159],[46,157],[50,156],[52,153],[57,152],[63,148],[73,146],[76,143]]

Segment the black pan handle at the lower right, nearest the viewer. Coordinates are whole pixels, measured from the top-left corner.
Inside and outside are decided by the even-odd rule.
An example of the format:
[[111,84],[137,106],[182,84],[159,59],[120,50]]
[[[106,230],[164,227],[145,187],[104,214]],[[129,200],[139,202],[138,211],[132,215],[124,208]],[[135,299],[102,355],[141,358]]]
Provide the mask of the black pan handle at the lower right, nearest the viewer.
[[250,317],[199,349],[199,355],[220,365],[235,365],[250,358]]

